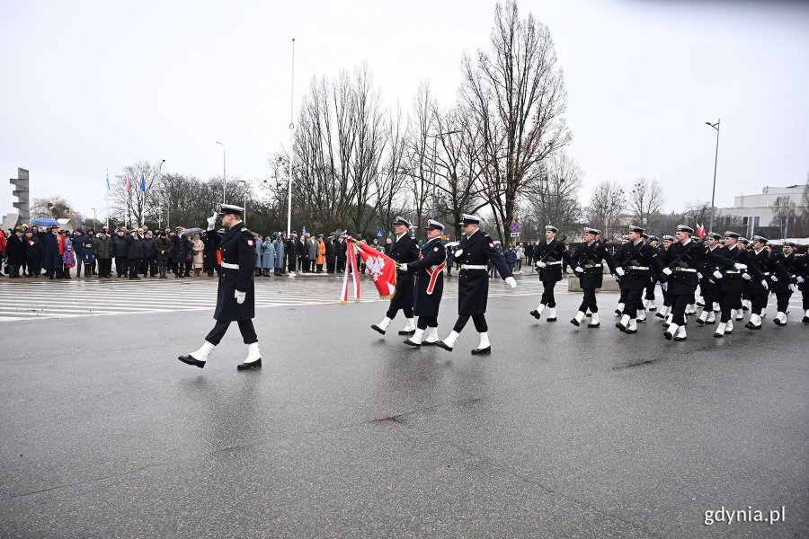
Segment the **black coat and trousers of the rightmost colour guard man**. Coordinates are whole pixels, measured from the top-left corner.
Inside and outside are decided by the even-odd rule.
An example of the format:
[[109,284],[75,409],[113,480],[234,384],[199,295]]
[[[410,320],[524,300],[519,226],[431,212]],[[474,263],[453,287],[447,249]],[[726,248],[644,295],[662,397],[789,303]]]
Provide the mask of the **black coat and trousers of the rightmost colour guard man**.
[[489,272],[486,265],[491,261],[503,280],[512,277],[511,271],[502,254],[494,248],[492,236],[479,229],[461,240],[458,251],[456,261],[461,263],[458,272],[458,322],[452,330],[460,333],[471,317],[476,331],[484,333],[489,331],[485,317],[489,299]]

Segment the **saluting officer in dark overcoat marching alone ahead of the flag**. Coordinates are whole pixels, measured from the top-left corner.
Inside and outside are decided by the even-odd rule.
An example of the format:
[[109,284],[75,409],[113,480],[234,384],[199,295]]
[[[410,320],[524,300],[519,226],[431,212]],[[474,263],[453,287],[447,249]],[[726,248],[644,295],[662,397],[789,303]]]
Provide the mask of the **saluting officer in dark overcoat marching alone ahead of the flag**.
[[[253,261],[255,258],[255,238],[242,223],[244,208],[222,204],[218,216],[228,230],[224,234],[219,249],[222,252],[222,272],[219,275],[217,308],[214,311],[216,325],[205,337],[200,349],[180,361],[188,365],[205,367],[211,351],[219,344],[231,322],[239,324],[244,344],[247,345],[247,358],[238,365],[238,370],[261,368],[262,355],[259,352],[258,337],[253,328],[255,317],[255,296],[253,290]],[[216,216],[208,220],[208,233],[212,233]]]

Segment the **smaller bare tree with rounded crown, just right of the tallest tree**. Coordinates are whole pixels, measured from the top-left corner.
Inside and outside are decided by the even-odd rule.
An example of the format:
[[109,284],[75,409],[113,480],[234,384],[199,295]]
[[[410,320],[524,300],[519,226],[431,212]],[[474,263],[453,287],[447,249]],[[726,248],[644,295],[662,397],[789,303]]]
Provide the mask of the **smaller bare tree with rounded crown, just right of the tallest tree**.
[[582,216],[581,186],[582,170],[575,159],[565,152],[554,155],[541,163],[526,186],[527,216],[540,227],[555,225],[572,234]]

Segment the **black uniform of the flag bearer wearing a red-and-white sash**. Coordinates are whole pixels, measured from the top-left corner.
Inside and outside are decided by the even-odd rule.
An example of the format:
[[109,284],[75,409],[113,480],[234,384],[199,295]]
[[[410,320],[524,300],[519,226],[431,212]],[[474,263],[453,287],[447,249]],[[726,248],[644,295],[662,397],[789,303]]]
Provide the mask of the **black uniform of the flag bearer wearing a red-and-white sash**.
[[[441,295],[444,293],[444,271],[439,268],[447,261],[447,250],[440,238],[433,238],[422,245],[419,260],[407,263],[407,272],[415,276],[415,301],[413,314],[419,317],[416,327],[426,330],[428,327],[438,327],[438,312],[441,304]],[[435,282],[432,290],[428,291],[431,275],[435,273]],[[398,281],[396,281],[398,282]]]

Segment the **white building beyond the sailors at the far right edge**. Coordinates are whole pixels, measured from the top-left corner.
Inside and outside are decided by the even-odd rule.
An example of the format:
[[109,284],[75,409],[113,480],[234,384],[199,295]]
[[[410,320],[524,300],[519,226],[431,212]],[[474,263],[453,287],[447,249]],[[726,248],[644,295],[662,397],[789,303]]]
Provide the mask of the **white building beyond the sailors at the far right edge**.
[[[741,195],[733,198],[733,208],[719,208],[720,216],[742,217],[745,235],[751,237],[756,230],[766,226],[786,228],[782,234],[789,234],[795,230],[795,223],[801,215],[801,205],[805,185],[791,185],[789,187],[765,187],[759,195]],[[788,197],[796,206],[796,215],[787,217],[785,222],[773,223],[772,206],[778,197]]]

